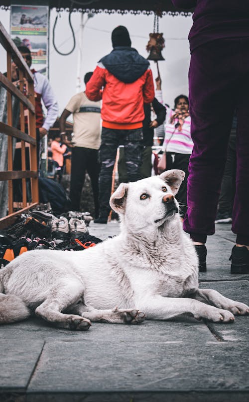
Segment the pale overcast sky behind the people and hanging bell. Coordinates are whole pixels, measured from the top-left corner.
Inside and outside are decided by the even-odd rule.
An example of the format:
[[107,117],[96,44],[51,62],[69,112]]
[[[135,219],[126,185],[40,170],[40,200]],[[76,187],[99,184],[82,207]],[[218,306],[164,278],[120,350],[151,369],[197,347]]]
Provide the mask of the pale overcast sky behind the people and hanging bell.
[[[50,83],[59,104],[60,113],[63,111],[70,97],[76,93],[77,58],[80,30],[80,13],[72,13],[72,24],[76,35],[76,48],[69,56],[59,55],[52,44],[52,28],[56,9],[50,11],[50,40],[49,40],[49,77]],[[72,33],[68,24],[68,12],[60,13],[58,18],[55,43],[62,52],[72,48]],[[0,10],[0,21],[9,32],[10,12]],[[85,14],[85,20],[86,14]],[[114,13],[95,14],[89,18],[83,32],[82,45],[82,77],[92,71],[98,60],[112,50],[111,32],[118,25],[127,27],[131,45],[138,52],[147,57],[146,44],[149,33],[153,32],[153,15],[119,15]],[[162,51],[165,61],[159,61],[159,70],[162,78],[164,102],[173,107],[174,98],[183,93],[188,95],[188,67],[190,61],[188,32],[192,25],[192,17],[163,16],[159,18],[159,31],[163,32],[165,48]],[[0,71],[6,70],[4,49],[0,45]],[[150,61],[154,78],[157,76],[156,65]],[[84,84],[82,85],[84,90]]]

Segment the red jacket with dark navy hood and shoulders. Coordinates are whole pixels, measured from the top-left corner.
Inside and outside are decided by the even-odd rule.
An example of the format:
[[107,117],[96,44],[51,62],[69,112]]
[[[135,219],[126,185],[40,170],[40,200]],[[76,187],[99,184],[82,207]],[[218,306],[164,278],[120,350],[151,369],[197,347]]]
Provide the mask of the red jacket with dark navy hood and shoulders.
[[133,48],[116,47],[98,63],[87,83],[86,95],[90,100],[103,100],[103,127],[142,127],[143,103],[152,102],[155,96],[148,61]]

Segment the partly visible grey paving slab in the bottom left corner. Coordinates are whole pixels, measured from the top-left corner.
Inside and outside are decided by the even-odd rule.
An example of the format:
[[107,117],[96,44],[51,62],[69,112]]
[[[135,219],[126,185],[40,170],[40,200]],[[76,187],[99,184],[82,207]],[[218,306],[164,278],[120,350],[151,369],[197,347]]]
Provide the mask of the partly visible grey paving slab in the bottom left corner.
[[1,393],[25,391],[43,346],[43,340],[27,340],[25,336],[20,339],[4,337],[0,347]]

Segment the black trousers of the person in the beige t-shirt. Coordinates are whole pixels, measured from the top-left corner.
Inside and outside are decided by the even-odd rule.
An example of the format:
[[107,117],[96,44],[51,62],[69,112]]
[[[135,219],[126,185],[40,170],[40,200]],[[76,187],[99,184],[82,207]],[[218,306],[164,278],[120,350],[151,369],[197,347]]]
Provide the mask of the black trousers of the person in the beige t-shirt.
[[98,150],[74,147],[71,157],[70,199],[71,209],[80,210],[81,193],[85,182],[86,172],[91,179],[93,189],[95,217],[99,215],[99,171]]

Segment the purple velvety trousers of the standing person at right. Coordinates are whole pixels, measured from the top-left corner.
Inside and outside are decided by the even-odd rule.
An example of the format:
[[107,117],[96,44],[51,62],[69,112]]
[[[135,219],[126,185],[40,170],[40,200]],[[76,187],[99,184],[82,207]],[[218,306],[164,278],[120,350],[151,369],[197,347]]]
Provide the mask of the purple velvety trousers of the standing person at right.
[[196,48],[189,67],[191,135],[184,230],[202,241],[215,217],[237,109],[237,177],[232,231],[249,245],[249,38],[217,39]]

